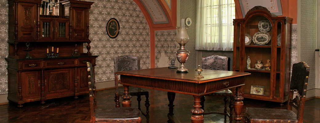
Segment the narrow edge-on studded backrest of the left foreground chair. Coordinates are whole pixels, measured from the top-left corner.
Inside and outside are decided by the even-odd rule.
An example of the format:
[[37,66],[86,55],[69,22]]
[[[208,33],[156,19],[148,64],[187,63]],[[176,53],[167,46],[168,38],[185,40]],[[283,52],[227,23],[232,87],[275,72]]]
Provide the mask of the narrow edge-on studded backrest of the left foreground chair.
[[95,121],[95,109],[97,108],[96,103],[96,87],[94,86],[94,72],[93,67],[90,62],[87,62],[87,72],[88,72],[88,84],[89,84],[89,100],[90,100],[90,113],[91,113],[91,123]]

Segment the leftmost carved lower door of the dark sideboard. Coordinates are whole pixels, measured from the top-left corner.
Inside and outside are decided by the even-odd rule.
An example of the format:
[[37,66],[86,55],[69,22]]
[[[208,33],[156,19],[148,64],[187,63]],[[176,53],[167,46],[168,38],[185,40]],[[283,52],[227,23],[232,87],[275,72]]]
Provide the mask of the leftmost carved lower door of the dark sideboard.
[[[40,100],[40,84],[41,72],[40,71],[25,71],[21,72],[21,96],[22,100],[39,99]],[[18,89],[19,91],[19,89]]]

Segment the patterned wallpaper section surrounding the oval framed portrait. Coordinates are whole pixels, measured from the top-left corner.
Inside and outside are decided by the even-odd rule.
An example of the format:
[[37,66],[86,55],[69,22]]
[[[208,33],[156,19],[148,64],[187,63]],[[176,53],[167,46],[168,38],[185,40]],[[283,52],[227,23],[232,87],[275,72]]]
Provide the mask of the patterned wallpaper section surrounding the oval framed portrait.
[[[114,57],[139,56],[140,68],[150,68],[150,31],[148,23],[132,0],[90,0],[90,37],[92,55],[98,55],[95,66],[96,82],[114,80]],[[119,35],[111,39],[106,32],[109,19],[120,24]],[[86,45],[84,52],[86,52]]]

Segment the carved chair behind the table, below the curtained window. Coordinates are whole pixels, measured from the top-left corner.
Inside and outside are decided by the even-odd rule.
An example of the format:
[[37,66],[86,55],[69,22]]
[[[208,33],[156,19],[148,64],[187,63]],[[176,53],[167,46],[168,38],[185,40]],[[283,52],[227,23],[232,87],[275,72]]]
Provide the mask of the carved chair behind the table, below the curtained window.
[[[208,70],[222,70],[222,71],[229,71],[230,70],[230,58],[224,57],[224,56],[218,56],[218,55],[212,55],[208,57],[203,57],[201,58],[201,63],[202,63],[202,69],[208,69]],[[211,93],[205,96],[222,96],[224,97],[224,112],[205,112],[204,115],[206,114],[222,114],[224,115],[225,120],[227,119],[227,116],[229,117],[230,123],[232,123],[232,110],[233,110],[233,94],[232,91],[227,89],[227,90],[222,90],[218,91],[215,93]],[[201,97],[201,108],[204,109],[204,101],[205,101],[205,96]],[[229,109],[230,111],[228,112],[228,101],[229,102]]]

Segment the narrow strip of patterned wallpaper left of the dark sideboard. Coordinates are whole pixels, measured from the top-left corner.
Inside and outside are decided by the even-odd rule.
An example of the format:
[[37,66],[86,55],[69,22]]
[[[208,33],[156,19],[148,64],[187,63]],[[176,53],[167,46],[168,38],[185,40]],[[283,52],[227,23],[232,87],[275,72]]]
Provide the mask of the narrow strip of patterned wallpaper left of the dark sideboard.
[[4,60],[8,56],[8,1],[0,1],[0,94],[8,93],[8,71],[7,62]]

